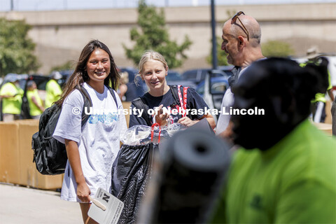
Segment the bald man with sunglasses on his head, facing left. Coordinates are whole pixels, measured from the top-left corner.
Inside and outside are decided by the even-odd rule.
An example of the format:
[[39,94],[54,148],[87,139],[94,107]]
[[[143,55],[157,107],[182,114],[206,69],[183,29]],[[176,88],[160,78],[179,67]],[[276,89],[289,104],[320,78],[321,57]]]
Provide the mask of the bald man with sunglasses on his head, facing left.
[[242,11],[236,13],[223,25],[222,50],[228,54],[228,63],[235,65],[235,68],[232,69],[233,75],[229,79],[230,87],[223,97],[222,113],[216,126],[216,134],[221,137],[230,139],[232,135],[232,123],[228,114],[230,106],[233,104],[231,86],[249,64],[265,58],[261,52],[260,38],[259,23]]

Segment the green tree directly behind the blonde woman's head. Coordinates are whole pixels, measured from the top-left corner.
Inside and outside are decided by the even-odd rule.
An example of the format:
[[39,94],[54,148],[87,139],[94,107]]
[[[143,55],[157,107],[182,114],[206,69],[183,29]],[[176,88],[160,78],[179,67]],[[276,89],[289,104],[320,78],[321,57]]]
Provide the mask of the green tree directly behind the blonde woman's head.
[[131,40],[136,43],[133,48],[127,48],[123,44],[127,58],[138,64],[146,50],[155,50],[165,57],[169,68],[181,66],[183,59],[187,58],[184,50],[192,43],[188,36],[185,36],[181,45],[176,41],[170,41],[165,27],[165,13],[163,10],[158,13],[154,6],[147,6],[144,0],[139,1],[138,12],[140,31],[136,27],[130,31]]

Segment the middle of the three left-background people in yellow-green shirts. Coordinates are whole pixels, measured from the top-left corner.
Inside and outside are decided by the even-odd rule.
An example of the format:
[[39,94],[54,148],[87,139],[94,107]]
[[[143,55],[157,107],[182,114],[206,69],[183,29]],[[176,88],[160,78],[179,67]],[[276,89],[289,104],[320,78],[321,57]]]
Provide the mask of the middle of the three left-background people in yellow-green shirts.
[[42,99],[38,95],[36,83],[33,80],[29,80],[27,83],[27,99],[31,118],[39,119],[44,111],[44,107]]

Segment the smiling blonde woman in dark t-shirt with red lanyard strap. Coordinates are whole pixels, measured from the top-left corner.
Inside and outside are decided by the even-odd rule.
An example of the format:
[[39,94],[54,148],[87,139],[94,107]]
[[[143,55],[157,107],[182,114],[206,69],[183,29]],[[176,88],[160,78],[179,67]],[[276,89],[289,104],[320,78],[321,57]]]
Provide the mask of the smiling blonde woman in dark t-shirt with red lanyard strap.
[[[152,50],[148,50],[141,57],[139,62],[139,76],[146,82],[148,92],[142,97],[134,99],[132,102],[132,109],[138,108],[141,105],[138,104],[141,100],[145,109],[156,109],[157,114],[151,116],[145,110],[143,116],[130,115],[130,127],[133,125],[153,125],[158,123],[159,125],[167,125],[168,123],[181,123],[186,127],[195,125],[202,119],[207,119],[212,128],[215,127],[214,118],[211,114],[202,113],[190,113],[191,109],[209,109],[204,99],[193,89],[188,87],[180,87],[180,91],[176,90],[176,86],[167,85],[166,76],[168,75],[168,64],[165,58],[159,53]],[[179,92],[179,94],[176,94]],[[179,97],[177,97],[178,95]],[[177,98],[177,99],[176,99]],[[182,104],[181,104],[182,102]],[[163,108],[167,110],[163,110]],[[169,110],[183,107],[184,111],[190,109],[186,113],[166,113]],[[200,110],[200,111],[201,111]],[[180,110],[183,111],[183,110]]]

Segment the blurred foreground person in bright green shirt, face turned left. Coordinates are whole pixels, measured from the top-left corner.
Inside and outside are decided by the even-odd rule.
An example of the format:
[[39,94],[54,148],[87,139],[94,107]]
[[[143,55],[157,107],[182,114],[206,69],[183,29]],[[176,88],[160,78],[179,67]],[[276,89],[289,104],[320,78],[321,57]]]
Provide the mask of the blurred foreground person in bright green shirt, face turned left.
[[[272,86],[272,87],[270,87]],[[336,140],[307,119],[328,87],[328,61],[253,62],[237,80],[234,152],[211,223],[336,223]],[[266,97],[265,97],[266,96]]]

